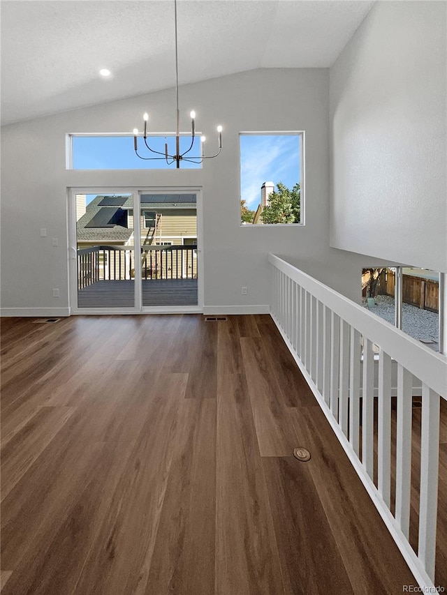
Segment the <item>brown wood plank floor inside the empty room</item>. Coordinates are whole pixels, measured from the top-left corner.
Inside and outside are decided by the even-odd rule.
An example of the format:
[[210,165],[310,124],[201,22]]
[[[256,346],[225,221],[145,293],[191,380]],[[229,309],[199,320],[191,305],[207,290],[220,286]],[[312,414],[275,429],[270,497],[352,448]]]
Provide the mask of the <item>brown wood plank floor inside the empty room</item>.
[[268,315],[1,334],[2,595],[416,585]]

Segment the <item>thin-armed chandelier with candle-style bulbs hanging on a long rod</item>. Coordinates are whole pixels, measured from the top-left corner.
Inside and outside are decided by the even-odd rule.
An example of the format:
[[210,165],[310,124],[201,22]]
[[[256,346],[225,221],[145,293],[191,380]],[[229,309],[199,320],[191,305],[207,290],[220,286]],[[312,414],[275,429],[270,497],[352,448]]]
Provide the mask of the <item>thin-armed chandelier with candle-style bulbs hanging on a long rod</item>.
[[[191,144],[189,149],[180,153],[180,112],[179,112],[179,64],[178,64],[178,50],[177,50],[177,0],[174,0],[174,13],[175,13],[175,100],[176,100],[176,126],[175,126],[175,153],[173,151],[169,151],[168,143],[165,143],[165,151],[162,153],[161,151],[155,151],[155,149],[151,149],[147,142],[147,122],[149,121],[149,114],[147,112],[143,115],[144,121],[144,132],[142,133],[142,138],[145,142],[145,147],[151,153],[156,153],[157,155],[161,155],[162,157],[143,157],[138,153],[138,137],[140,133],[138,133],[138,128],[133,128],[133,149],[135,149],[135,154],[140,159],[144,160],[155,160],[160,159],[166,161],[168,165],[172,165],[173,163],[176,164],[177,169],[180,167],[180,161],[189,161],[190,163],[202,163],[204,159],[214,159],[217,157],[222,150],[222,127],[219,125],[217,126],[217,133],[218,133],[218,151],[214,155],[205,156],[203,154],[203,144],[205,143],[205,137],[200,137],[200,156],[193,156],[193,153],[190,155],[190,151],[194,147],[194,141],[196,140],[196,112],[194,110],[191,111]],[[147,153],[149,154],[149,153]]]

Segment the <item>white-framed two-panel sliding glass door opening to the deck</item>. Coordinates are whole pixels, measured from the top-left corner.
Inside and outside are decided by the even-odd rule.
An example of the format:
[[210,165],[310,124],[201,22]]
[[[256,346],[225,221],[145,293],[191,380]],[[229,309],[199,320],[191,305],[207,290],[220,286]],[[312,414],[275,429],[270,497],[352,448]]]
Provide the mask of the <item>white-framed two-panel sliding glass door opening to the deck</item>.
[[73,191],[73,311],[197,311],[197,195]]

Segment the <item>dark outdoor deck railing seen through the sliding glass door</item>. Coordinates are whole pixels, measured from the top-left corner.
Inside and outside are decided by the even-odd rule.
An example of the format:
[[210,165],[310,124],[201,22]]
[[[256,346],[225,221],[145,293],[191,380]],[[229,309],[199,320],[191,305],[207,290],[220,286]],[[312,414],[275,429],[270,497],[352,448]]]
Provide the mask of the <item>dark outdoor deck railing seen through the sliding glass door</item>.
[[135,263],[142,280],[193,279],[197,277],[197,246],[142,246],[141,260],[134,246],[91,246],[78,250],[78,289],[98,281],[135,277]]

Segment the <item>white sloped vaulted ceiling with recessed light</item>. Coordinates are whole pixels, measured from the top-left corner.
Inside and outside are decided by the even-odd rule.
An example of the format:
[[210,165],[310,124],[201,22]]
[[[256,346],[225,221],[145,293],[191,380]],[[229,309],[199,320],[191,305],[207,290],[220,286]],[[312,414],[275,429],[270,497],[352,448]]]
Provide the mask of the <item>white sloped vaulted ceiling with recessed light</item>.
[[[179,83],[328,67],[369,0],[178,0]],[[1,0],[1,121],[175,84],[173,0]],[[112,77],[103,79],[100,68]]]

